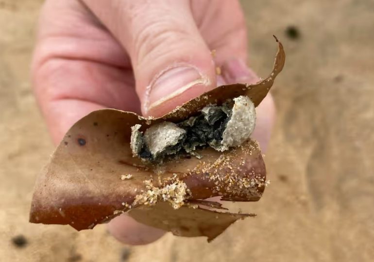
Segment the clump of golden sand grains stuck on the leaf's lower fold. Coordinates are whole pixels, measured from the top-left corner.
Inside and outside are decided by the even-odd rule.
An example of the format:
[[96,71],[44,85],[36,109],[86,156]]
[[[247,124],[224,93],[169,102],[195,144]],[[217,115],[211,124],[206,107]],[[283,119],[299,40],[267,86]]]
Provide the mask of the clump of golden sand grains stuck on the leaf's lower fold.
[[175,179],[172,183],[162,187],[155,187],[152,180],[145,180],[144,183],[146,191],[136,195],[132,206],[153,206],[157,201],[164,201],[169,202],[173,209],[178,209],[184,205],[184,200],[190,196],[186,183],[179,179]]

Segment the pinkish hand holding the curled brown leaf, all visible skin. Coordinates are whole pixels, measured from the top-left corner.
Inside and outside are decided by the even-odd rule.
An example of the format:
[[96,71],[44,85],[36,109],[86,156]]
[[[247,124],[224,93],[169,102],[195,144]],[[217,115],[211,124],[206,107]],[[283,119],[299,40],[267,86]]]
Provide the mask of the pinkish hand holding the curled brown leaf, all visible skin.
[[[217,85],[257,82],[245,61],[246,27],[237,0],[47,0],[32,77],[57,145],[94,110],[161,116]],[[252,136],[264,151],[275,115],[270,95],[256,113]],[[132,245],[164,234],[126,215],[108,229]]]

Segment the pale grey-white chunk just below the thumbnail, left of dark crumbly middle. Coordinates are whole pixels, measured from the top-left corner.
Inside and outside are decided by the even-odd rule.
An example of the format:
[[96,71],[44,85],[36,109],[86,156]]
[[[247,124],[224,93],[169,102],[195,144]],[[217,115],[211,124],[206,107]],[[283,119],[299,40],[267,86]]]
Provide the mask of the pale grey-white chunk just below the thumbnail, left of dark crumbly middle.
[[[166,147],[175,146],[186,131],[171,122],[151,126],[144,132],[144,141],[153,157],[157,157]],[[134,152],[134,150],[133,150]]]

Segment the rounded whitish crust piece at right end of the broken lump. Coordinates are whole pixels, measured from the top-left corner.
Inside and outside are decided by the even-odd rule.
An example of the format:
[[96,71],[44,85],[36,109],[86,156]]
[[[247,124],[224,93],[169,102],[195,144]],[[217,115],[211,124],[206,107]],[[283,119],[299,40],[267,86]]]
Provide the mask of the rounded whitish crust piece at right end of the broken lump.
[[255,129],[255,124],[256,111],[251,99],[246,96],[234,98],[231,118],[222,134],[220,151],[224,151],[228,147],[240,146],[250,137]]

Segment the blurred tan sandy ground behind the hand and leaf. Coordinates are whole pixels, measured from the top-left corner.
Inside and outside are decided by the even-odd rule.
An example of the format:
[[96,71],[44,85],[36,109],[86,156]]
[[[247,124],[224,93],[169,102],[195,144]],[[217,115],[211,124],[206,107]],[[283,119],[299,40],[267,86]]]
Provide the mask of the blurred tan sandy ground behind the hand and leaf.
[[[373,261],[373,0],[242,1],[251,66],[268,73],[272,34],[288,55],[273,91],[272,183],[259,202],[241,205],[258,216],[209,245],[167,234],[136,247],[104,226],[78,233],[28,223],[35,177],[53,150],[28,76],[41,3],[0,0],[1,261]],[[287,36],[290,25],[300,37]],[[12,242],[19,235],[22,247]]]

